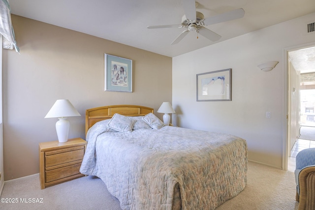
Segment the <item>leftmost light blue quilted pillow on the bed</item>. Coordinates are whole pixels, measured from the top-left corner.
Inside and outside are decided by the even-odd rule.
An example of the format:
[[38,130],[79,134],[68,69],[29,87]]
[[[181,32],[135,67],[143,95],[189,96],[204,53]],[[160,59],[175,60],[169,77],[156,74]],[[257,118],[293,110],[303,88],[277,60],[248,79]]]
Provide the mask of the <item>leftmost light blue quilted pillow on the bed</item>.
[[135,121],[121,114],[114,114],[107,127],[123,133],[132,132]]

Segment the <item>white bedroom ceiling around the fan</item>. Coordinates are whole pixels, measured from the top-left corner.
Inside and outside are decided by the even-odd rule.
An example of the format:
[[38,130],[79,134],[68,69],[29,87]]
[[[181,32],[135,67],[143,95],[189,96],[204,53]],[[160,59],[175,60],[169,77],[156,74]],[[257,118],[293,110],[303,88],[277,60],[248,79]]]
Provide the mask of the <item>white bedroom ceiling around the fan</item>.
[[[213,42],[190,32],[170,43],[181,28],[147,29],[149,25],[181,24],[181,0],[9,0],[11,13],[161,55],[178,56],[235,36],[315,12],[315,0],[198,0],[196,8],[211,17],[237,8],[245,16],[207,26],[221,35]],[[14,27],[14,26],[13,26]]]

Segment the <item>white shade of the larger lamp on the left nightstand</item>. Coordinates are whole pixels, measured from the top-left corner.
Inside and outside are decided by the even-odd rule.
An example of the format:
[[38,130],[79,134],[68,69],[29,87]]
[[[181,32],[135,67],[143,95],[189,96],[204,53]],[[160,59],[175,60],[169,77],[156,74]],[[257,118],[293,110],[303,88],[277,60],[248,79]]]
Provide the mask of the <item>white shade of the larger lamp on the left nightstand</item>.
[[81,114],[74,108],[69,100],[60,99],[51,107],[45,118],[74,116],[81,116]]

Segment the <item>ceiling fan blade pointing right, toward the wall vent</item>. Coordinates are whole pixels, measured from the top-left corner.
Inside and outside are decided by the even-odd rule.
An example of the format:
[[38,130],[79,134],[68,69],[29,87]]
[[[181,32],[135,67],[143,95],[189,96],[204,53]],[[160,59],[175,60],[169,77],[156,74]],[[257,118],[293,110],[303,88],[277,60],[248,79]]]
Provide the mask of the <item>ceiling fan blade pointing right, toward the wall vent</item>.
[[209,18],[206,18],[203,23],[205,26],[222,23],[225,21],[235,20],[244,17],[245,11],[242,8],[234,9],[229,12],[222,13],[220,15],[215,15]]

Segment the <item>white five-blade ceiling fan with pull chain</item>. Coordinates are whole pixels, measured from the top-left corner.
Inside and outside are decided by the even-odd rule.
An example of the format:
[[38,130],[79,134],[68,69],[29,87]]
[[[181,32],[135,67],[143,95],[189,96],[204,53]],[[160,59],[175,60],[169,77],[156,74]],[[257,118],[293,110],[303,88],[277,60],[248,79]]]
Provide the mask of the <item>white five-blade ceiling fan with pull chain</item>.
[[200,35],[210,39],[211,41],[217,41],[221,38],[221,35],[214,33],[207,29],[205,26],[209,26],[216,23],[222,23],[230,20],[235,20],[244,17],[245,11],[242,8],[231,10],[219,15],[205,18],[201,12],[196,11],[198,2],[195,0],[182,0],[185,15],[182,17],[181,25],[161,25],[161,26],[148,26],[148,29],[162,29],[162,28],[185,28],[179,36],[177,36],[171,44],[177,44],[180,42],[189,32],[197,32]]

